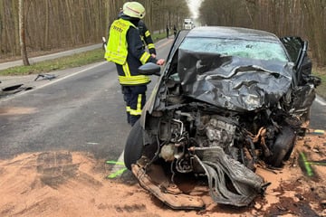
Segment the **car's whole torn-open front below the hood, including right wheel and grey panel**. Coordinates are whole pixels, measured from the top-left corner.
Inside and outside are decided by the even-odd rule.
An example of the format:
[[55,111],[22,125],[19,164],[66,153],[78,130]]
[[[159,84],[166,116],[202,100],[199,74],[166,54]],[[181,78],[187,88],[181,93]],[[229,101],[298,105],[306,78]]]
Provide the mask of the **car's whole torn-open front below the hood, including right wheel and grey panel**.
[[221,108],[185,96],[171,78],[147,117],[144,144],[151,151],[144,156],[151,154],[149,162],[163,159],[172,183],[177,174],[206,175],[216,203],[248,205],[268,185],[254,173],[255,166],[283,165],[301,128],[300,117],[286,112],[286,97],[268,107],[232,110],[227,101]]

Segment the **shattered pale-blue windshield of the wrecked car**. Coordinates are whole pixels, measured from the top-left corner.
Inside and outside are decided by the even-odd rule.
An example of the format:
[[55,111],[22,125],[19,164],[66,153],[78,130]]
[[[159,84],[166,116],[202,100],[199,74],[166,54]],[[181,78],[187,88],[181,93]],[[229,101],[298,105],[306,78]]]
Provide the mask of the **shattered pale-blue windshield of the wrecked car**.
[[186,38],[180,48],[192,52],[213,52],[264,61],[289,61],[276,42],[224,38]]

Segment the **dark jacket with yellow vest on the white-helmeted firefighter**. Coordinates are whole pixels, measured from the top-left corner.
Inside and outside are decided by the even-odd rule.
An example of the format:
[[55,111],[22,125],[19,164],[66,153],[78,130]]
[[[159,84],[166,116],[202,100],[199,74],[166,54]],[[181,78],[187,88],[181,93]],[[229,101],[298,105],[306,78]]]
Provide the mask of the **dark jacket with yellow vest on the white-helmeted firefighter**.
[[149,76],[139,74],[146,62],[156,62],[143,48],[139,30],[129,20],[120,18],[110,26],[105,59],[116,63],[121,85],[141,85],[150,82]]

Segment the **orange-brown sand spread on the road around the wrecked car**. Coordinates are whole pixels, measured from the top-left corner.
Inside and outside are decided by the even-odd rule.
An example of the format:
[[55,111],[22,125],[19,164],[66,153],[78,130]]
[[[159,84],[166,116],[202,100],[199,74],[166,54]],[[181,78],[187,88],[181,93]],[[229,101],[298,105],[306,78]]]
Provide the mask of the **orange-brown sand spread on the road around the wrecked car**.
[[0,161],[0,216],[326,216],[325,161],[325,135],[311,130],[283,169],[257,168],[272,184],[249,207],[218,205],[203,193],[206,210],[175,211],[129,171],[108,178],[113,165],[91,154],[25,153]]

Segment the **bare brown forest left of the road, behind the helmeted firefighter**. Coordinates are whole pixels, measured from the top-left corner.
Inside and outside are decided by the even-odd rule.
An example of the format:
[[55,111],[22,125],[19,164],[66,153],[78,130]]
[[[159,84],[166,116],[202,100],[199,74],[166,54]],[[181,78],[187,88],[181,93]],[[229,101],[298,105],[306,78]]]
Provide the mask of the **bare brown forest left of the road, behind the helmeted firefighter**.
[[[21,55],[24,21],[27,52],[70,49],[100,43],[117,18],[121,0],[0,0],[0,59]],[[139,0],[151,31],[180,24],[189,15],[185,0]],[[22,13],[20,13],[20,11]],[[21,16],[20,16],[21,14]],[[23,17],[23,19],[21,19]]]

